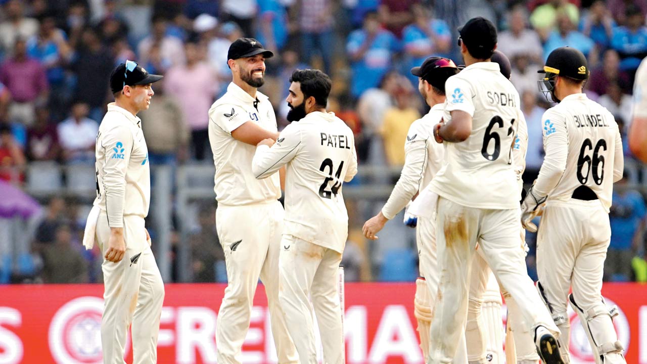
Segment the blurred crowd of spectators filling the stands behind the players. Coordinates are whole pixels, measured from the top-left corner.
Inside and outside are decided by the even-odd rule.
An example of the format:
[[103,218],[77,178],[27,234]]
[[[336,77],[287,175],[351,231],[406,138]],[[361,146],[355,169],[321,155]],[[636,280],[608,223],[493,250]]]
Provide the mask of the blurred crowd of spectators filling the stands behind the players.
[[[418,79],[409,70],[432,54],[461,63],[456,28],[476,15],[496,24],[498,49],[512,63],[511,81],[521,96],[529,129],[525,183],[532,183],[542,165],[541,118],[549,107],[538,91],[536,71],[553,49],[564,45],[587,56],[592,71],[585,91],[613,113],[623,133],[625,158],[632,157],[626,131],[632,120],[635,71],[647,56],[647,0],[5,0],[0,4],[0,179],[27,192],[31,163],[94,165],[96,133],[113,98],[109,75],[127,59],[165,76],[153,87],[150,109],[139,115],[151,166],[212,164],[208,109],[231,80],[226,54],[232,41],[242,36],[256,38],[276,54],[266,62],[260,90],[270,97],[280,129],[287,125],[285,97],[292,70],[322,69],[333,78],[329,110],[355,133],[360,170],[367,165],[402,166],[406,133],[427,111],[417,91]],[[641,280],[645,275],[637,271],[647,269],[644,188],[633,188],[644,186],[647,176],[634,177],[620,181],[613,196],[606,280]],[[373,182],[359,178],[356,183]],[[32,269],[25,275],[14,272],[8,280],[99,282],[101,257],[80,244],[87,211],[82,207],[91,198],[53,194],[38,199],[45,212],[30,239],[32,262],[26,265]],[[213,203],[200,208],[198,228],[188,239],[192,251],[200,252],[193,255],[189,268],[199,282],[222,279],[218,272],[224,269],[224,255],[215,234],[214,211]],[[353,234],[365,217],[369,216],[351,216],[349,238],[356,241],[344,254],[347,280],[384,277],[371,265],[369,243]],[[173,242],[179,244],[177,234]],[[532,236],[529,245],[532,277]],[[10,255],[12,251],[0,245],[0,266],[6,261],[3,256]]]

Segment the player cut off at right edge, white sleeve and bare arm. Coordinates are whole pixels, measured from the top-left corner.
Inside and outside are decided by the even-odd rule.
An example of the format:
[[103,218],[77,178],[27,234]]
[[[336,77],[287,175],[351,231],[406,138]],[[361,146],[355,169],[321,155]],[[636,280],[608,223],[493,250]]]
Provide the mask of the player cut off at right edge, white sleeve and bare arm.
[[633,81],[633,120],[627,136],[631,153],[647,163],[647,58],[638,66]]

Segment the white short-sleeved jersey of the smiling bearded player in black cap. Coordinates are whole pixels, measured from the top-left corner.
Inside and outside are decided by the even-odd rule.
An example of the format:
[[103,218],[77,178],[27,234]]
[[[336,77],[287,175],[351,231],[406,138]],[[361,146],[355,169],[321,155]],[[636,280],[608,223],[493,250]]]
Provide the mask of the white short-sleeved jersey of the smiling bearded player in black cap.
[[261,180],[254,178],[252,158],[256,146],[232,137],[232,131],[248,121],[277,131],[276,116],[267,96],[257,92],[253,98],[232,82],[225,95],[209,109],[215,199],[223,205],[249,205],[281,198],[279,174]]

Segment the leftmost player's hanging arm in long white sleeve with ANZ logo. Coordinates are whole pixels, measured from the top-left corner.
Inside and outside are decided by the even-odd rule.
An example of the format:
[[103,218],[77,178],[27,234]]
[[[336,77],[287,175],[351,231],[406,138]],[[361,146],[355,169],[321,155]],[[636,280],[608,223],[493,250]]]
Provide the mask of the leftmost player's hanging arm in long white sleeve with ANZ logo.
[[127,126],[116,126],[103,134],[104,150],[103,184],[105,212],[110,237],[105,259],[119,262],[126,253],[124,242],[124,204],[126,196],[126,170],[133,150],[133,133]]

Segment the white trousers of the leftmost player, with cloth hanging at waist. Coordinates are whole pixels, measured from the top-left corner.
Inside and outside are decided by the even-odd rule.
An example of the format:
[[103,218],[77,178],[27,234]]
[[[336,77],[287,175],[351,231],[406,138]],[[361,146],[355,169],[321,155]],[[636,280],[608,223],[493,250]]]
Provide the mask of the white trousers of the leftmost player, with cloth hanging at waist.
[[[102,256],[108,249],[110,227],[105,212],[96,222],[96,238]],[[155,256],[146,241],[144,219],[124,216],[126,253],[119,262],[105,260],[104,315],[101,345],[104,364],[123,364],[126,334],[131,327],[133,364],[157,363],[157,334],[160,328],[164,282]]]

